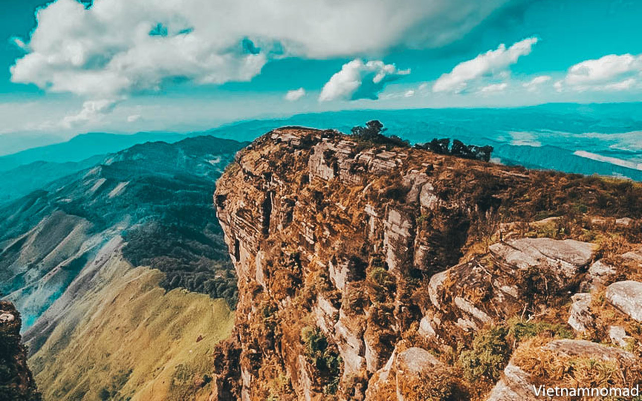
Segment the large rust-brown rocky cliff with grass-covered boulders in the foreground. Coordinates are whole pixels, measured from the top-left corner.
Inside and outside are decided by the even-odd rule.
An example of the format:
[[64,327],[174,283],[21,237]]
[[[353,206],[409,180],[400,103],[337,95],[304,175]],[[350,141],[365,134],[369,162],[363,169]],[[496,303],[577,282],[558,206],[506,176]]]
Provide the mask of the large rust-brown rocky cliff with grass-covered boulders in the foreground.
[[[639,320],[605,288],[642,277],[631,256],[641,194],[333,131],[270,132],[214,194],[239,278],[215,395],[510,400],[535,397],[525,388],[543,377],[574,377],[542,376],[553,370],[534,353],[562,365],[606,355],[626,372],[618,383],[637,383]],[[584,339],[616,343],[612,327],[621,354],[577,351]]]

